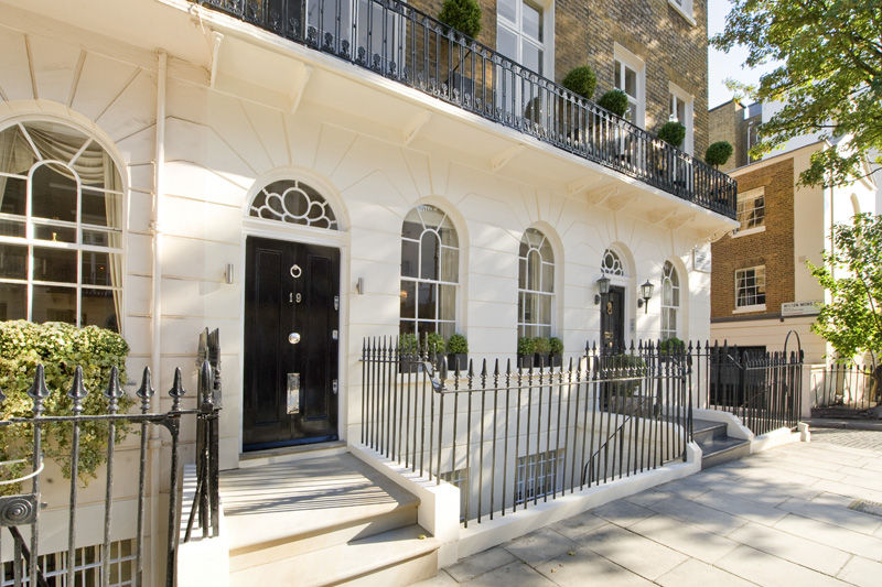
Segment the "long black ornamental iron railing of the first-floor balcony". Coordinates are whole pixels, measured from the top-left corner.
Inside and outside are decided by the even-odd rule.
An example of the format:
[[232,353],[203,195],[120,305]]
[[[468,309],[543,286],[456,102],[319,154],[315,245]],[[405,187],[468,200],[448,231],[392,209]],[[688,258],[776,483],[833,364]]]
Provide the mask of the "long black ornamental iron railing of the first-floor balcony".
[[399,0],[196,0],[735,218],[734,180]]

